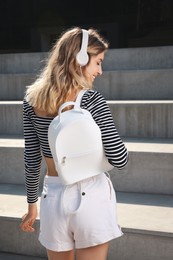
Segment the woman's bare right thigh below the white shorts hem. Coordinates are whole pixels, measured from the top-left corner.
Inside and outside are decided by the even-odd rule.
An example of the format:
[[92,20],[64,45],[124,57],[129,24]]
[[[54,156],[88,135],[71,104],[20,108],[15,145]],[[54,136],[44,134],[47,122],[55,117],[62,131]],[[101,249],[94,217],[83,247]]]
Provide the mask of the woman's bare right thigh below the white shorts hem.
[[76,260],[106,260],[108,248],[109,242],[98,246],[76,249]]

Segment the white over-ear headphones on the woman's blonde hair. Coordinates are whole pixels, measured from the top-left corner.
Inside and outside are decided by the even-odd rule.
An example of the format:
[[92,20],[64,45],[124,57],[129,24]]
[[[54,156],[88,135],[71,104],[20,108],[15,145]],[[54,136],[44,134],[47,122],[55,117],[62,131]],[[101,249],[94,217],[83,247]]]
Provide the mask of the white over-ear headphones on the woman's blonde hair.
[[89,57],[87,53],[88,47],[88,31],[82,29],[82,43],[81,49],[76,55],[76,60],[80,66],[85,66],[88,63]]

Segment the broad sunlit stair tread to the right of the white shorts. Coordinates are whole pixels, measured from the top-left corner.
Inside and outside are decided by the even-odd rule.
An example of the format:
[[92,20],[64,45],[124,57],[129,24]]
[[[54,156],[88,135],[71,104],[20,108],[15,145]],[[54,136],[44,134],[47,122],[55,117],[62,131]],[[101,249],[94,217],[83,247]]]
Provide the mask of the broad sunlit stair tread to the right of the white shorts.
[[173,195],[117,191],[117,201],[119,222],[126,231],[173,239]]

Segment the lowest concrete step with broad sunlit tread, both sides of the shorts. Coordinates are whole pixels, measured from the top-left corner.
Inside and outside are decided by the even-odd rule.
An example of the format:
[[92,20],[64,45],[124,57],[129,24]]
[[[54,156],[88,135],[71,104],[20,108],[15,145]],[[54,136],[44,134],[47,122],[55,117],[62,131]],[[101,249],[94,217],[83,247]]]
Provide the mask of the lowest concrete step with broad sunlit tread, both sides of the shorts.
[[[111,241],[109,260],[173,259],[173,196],[117,193],[118,220],[124,235]],[[38,203],[39,206],[39,203]],[[23,185],[0,185],[0,252],[46,257],[36,232],[19,229],[27,204]]]

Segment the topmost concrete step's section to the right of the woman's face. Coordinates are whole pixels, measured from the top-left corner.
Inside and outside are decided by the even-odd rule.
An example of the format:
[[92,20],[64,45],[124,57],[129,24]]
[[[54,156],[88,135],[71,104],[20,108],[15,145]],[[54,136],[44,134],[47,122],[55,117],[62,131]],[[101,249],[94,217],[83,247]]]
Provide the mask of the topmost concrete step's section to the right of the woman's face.
[[173,46],[111,49],[105,55],[103,70],[173,68]]

